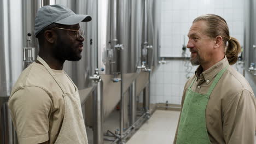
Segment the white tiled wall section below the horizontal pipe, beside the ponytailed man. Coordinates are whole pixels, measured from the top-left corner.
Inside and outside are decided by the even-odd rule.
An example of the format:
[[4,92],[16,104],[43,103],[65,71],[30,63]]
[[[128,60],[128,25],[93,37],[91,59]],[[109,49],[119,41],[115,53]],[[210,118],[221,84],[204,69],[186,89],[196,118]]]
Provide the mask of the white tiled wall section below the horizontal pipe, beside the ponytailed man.
[[[160,65],[152,75],[150,85],[151,103],[168,103],[181,104],[181,98],[185,82],[187,81],[185,61],[188,60],[169,60],[166,64]],[[192,76],[196,67],[191,67],[190,74]]]

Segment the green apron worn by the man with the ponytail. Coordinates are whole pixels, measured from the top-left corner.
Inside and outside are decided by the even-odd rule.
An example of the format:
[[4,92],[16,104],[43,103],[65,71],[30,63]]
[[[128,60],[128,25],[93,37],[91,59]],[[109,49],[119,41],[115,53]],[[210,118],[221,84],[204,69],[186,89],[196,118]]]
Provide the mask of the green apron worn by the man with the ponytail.
[[195,79],[189,86],[179,121],[177,144],[211,143],[206,128],[205,111],[210,95],[226,68],[228,68],[228,66],[217,74],[206,94],[196,93],[191,90]]

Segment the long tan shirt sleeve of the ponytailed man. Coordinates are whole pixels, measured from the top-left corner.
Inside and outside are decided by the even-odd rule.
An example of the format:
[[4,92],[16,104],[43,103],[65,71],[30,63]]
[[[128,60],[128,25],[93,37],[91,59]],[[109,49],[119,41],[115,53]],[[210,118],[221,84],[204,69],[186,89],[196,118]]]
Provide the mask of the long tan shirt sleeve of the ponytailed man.
[[254,143],[256,128],[254,94],[243,90],[224,110],[223,132],[225,143]]

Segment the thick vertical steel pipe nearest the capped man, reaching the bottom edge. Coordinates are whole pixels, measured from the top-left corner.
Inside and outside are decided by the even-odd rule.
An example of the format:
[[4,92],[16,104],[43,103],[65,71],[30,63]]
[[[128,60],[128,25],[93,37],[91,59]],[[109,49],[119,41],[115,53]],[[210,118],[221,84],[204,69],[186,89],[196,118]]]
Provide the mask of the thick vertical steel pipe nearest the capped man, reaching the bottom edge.
[[100,80],[94,91],[94,144],[103,144],[103,82]]

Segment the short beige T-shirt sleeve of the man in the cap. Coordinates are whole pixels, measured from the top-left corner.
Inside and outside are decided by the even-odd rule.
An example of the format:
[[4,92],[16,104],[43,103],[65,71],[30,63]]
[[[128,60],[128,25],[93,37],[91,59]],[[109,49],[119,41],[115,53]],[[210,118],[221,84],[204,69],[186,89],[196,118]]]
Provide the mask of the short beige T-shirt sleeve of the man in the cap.
[[19,89],[9,99],[9,109],[20,144],[49,140],[49,116],[53,103],[42,88]]

